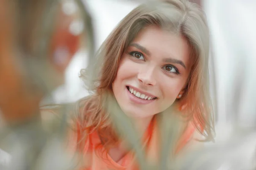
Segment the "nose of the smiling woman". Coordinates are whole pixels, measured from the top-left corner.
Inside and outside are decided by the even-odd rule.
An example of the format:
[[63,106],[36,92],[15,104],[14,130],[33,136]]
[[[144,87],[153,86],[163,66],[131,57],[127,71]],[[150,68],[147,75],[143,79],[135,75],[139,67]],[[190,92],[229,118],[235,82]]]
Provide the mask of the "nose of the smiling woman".
[[137,79],[142,85],[154,86],[156,85],[156,79],[154,77],[154,69],[143,69],[140,70]]

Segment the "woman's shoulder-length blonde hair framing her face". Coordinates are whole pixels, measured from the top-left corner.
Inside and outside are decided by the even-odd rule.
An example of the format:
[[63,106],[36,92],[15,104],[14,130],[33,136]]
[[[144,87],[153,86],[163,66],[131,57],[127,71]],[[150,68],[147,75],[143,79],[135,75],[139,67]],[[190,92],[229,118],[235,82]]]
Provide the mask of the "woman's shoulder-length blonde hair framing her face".
[[[106,139],[105,147],[117,142],[109,114],[104,111],[106,94],[112,92],[120,58],[138,32],[148,25],[160,26],[184,37],[191,46],[192,69],[183,97],[184,114],[195,128],[212,139],[213,117],[209,95],[209,31],[204,12],[186,0],[163,0],[142,4],[132,10],[111,32],[96,54],[96,64],[81,70],[81,79],[91,92],[77,105],[79,131],[97,130]],[[90,72],[88,72],[90,71]],[[94,79],[93,79],[94,78]]]

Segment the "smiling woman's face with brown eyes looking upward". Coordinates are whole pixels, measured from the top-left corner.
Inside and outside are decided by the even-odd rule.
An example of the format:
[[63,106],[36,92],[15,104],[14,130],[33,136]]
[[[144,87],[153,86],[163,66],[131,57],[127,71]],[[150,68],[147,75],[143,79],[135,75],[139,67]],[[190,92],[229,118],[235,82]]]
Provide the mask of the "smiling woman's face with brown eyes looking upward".
[[128,116],[153,116],[169,108],[183,93],[189,72],[186,40],[148,26],[122,54],[113,94]]

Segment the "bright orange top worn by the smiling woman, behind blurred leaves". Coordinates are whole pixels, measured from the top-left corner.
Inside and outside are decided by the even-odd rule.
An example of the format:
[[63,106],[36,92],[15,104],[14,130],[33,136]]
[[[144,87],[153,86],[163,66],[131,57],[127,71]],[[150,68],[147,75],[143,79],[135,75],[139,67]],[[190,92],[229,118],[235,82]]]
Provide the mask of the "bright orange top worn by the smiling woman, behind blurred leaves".
[[[143,147],[145,147],[146,158],[150,162],[157,161],[158,158],[159,133],[157,131],[156,122],[156,119],[151,121],[151,124],[148,126],[148,130],[144,136],[145,141],[143,143]],[[182,149],[189,142],[194,132],[195,128],[192,125],[189,125],[180,139],[177,150]],[[79,136],[78,133],[76,141],[79,141],[80,139],[81,136]],[[76,144],[77,143],[73,143],[73,147],[76,147]],[[87,136],[82,152],[84,155],[84,162],[86,162],[87,167],[84,167],[81,170],[139,170],[132,151],[127,153],[119,163],[113,161],[108,153],[106,153],[97,132],[91,133]]]

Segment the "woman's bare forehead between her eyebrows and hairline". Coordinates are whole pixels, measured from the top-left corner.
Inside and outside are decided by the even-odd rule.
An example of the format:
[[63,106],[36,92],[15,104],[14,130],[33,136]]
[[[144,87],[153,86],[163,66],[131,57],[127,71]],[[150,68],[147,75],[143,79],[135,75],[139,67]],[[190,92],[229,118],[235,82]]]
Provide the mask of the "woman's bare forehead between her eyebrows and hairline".
[[157,26],[148,26],[137,34],[133,42],[145,47],[153,57],[179,59],[189,65],[189,44],[180,35]]

